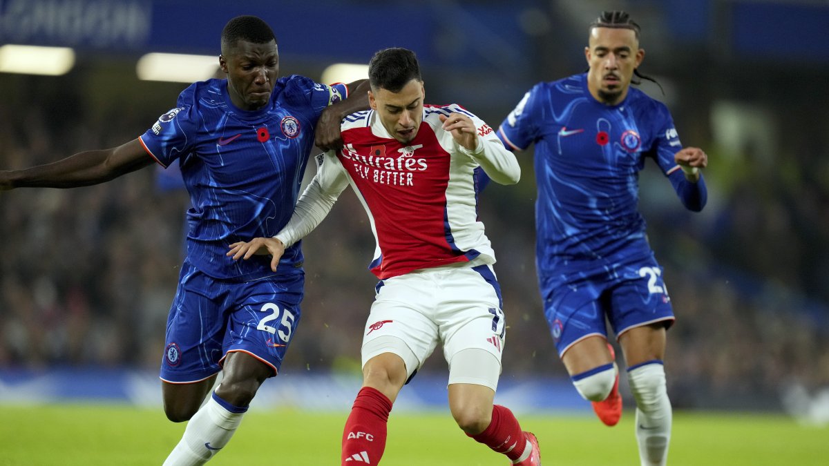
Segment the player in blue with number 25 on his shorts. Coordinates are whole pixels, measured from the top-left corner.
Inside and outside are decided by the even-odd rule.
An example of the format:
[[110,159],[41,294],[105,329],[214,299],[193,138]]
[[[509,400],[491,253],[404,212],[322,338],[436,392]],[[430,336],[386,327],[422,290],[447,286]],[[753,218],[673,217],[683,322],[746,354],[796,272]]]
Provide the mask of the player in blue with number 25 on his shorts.
[[[266,258],[226,258],[228,245],[282,229],[314,143],[342,147],[342,117],[368,108],[367,80],[352,83],[359,89],[343,100],[346,85],[278,78],[276,38],[258,17],[227,23],[219,65],[227,79],[189,86],[174,109],[124,145],[0,172],[0,189],[80,187],[180,163],[190,229],[161,379],[167,418],[189,423],[165,464],[204,464],[227,444],[259,386],[277,375],[297,330],[300,245],[273,268]],[[221,384],[201,406],[219,371]]]

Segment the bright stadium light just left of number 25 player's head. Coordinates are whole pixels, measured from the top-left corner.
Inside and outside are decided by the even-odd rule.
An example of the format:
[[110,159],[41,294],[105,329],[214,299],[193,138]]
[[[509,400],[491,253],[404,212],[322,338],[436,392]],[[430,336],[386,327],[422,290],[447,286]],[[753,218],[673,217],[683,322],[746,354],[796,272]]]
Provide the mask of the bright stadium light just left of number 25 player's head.
[[206,80],[219,70],[219,57],[177,53],[148,53],[138,59],[139,80],[192,83]]

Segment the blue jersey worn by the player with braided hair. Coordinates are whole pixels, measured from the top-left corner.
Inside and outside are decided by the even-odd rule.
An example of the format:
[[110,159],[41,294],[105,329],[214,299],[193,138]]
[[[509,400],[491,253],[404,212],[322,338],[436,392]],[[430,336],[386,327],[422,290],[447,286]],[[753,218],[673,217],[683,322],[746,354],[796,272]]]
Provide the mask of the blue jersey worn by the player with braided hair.
[[[587,75],[535,85],[498,129],[516,150],[535,143],[536,258],[542,275],[595,259],[651,255],[638,212],[646,158],[666,175],[681,143],[667,107],[630,88],[622,103],[590,95]],[[554,272],[555,271],[555,272]]]

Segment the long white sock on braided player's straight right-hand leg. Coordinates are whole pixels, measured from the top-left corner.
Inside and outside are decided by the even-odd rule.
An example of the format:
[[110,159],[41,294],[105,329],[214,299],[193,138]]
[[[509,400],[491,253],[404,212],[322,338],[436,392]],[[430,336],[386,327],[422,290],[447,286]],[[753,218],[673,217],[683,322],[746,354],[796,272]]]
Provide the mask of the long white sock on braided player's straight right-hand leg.
[[671,441],[671,400],[662,361],[649,361],[628,369],[636,399],[636,439],[642,466],[664,466]]

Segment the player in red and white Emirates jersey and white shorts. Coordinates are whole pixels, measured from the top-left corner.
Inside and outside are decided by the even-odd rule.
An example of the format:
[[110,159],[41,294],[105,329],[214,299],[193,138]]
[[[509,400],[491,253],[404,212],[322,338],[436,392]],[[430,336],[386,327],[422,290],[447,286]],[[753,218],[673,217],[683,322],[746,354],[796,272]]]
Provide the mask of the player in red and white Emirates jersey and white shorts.
[[414,52],[379,51],[369,64],[371,110],[346,117],[344,148],[318,156],[318,173],[275,238],[233,245],[252,259],[307,235],[349,185],[376,240],[369,268],[381,280],[361,350],[363,386],[342,436],[342,464],[378,464],[386,422],[400,389],[440,342],[449,365],[449,408],[468,436],[513,464],[540,464],[535,435],[511,410],[494,405],[505,320],[478,221],[478,169],[502,184],[518,182],[512,153],[481,119],[458,104],[424,105]]

